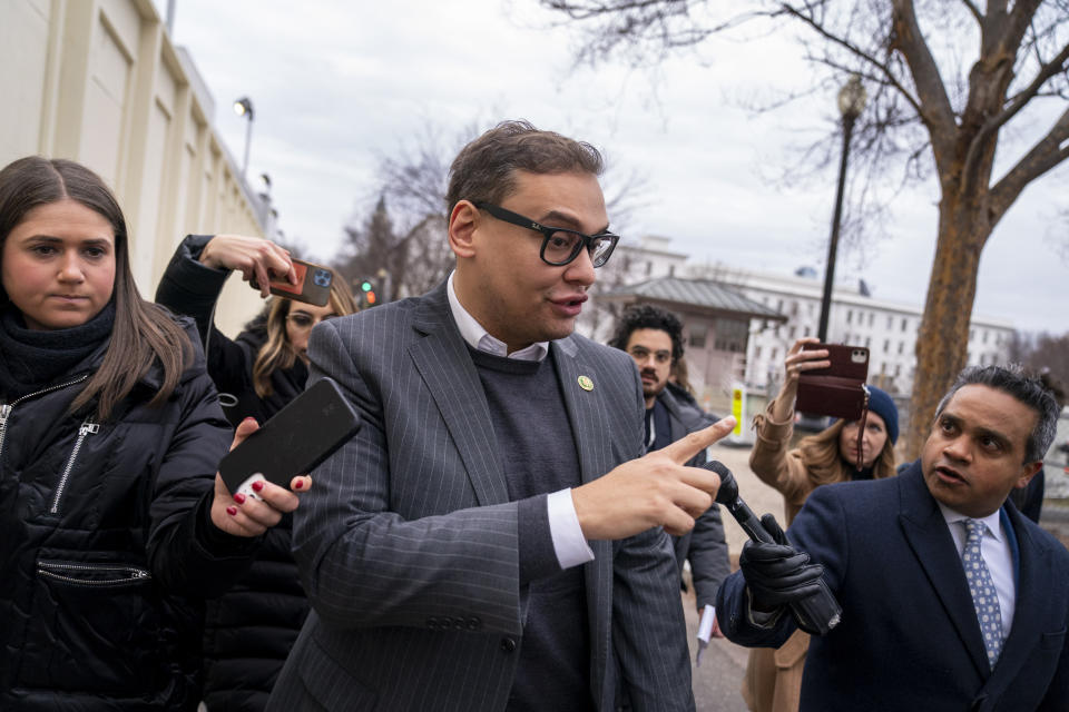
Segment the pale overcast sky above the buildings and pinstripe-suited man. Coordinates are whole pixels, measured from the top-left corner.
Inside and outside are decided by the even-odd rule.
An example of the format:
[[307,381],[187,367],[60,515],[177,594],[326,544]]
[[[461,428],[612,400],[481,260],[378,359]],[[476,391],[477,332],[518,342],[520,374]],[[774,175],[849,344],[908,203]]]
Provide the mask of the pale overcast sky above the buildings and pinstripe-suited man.
[[[164,14],[165,0],[156,3]],[[695,261],[784,275],[812,265],[823,276],[834,170],[803,187],[773,179],[787,147],[835,120],[834,92],[786,111],[743,108],[808,86],[812,69],[790,38],[718,40],[654,73],[573,69],[578,40],[549,19],[536,0],[177,0],[174,40],[193,55],[238,165],[245,125],[231,105],[254,102],[249,176],[271,175],[279,227],[320,259],[377,196],[381,155],[428,126],[449,138],[527,118],[604,149],[607,184],[645,178],[644,207],[614,225],[625,237],[669,237]],[[975,314],[1069,332],[1069,221],[1058,218],[1067,178],[1067,166],[1048,174],[1002,219],[981,259]],[[836,276],[922,307],[936,200],[934,185],[898,196],[886,237],[841,251]]]

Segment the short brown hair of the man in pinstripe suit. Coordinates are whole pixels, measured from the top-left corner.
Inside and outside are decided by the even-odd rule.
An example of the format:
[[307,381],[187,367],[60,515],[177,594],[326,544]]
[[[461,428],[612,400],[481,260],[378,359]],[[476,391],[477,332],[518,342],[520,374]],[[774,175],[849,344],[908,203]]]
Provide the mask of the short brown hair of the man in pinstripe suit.
[[460,200],[500,205],[516,189],[517,170],[600,176],[604,169],[601,154],[590,144],[541,131],[530,121],[502,121],[453,159],[445,202],[450,214]]

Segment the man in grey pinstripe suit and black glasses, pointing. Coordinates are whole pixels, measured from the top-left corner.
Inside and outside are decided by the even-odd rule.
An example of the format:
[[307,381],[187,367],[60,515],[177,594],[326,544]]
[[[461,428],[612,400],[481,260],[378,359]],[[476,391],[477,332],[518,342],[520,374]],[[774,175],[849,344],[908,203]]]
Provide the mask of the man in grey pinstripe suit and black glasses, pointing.
[[313,333],[364,424],[294,520],[314,610],[269,710],[694,709],[665,530],[734,423],[639,457],[634,362],[572,334],[617,239],[600,170],[499,125],[450,171],[449,280]]

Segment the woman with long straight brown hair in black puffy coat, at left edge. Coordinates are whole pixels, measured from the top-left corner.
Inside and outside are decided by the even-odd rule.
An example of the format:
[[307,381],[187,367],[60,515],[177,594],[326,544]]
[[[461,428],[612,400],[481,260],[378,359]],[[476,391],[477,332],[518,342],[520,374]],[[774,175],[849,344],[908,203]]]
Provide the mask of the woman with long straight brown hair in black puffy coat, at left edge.
[[96,174],[0,170],[0,709],[193,710],[203,599],[297,497],[226,491],[199,342],[138,295]]

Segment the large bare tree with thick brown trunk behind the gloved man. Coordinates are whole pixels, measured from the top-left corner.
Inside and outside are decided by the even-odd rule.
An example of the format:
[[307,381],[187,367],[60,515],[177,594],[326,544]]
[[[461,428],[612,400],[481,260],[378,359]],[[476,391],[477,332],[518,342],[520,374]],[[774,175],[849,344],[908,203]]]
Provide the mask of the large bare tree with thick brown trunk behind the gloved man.
[[[973,0],[753,0],[723,18],[706,0],[540,2],[588,32],[583,60],[658,61],[767,21],[805,30],[806,57],[825,70],[818,83],[863,78],[872,101],[854,134],[862,172],[896,169],[904,181],[931,172],[940,189],[906,442],[906,454],[918,454],[940,395],[965,364],[984,245],[1021,191],[1069,157],[1069,2],[990,0],[981,9]],[[825,145],[835,140],[830,135]],[[1000,160],[1008,167],[997,175],[997,149],[1014,141],[1028,146],[1016,160]],[[865,190],[854,198],[880,209]]]

